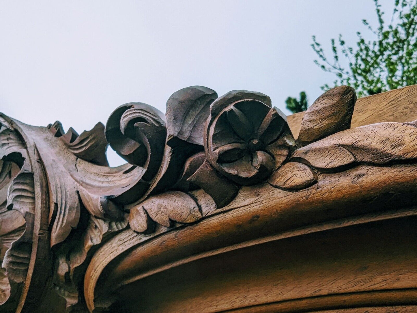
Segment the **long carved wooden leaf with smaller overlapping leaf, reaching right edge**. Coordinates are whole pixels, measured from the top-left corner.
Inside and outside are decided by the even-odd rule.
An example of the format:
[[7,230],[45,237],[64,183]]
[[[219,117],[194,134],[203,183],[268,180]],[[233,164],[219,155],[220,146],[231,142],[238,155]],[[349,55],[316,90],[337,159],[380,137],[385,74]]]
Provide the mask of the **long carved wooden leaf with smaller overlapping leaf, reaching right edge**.
[[417,128],[402,123],[378,123],[333,134],[297,149],[292,158],[320,169],[337,169],[353,162],[384,164],[417,158]]

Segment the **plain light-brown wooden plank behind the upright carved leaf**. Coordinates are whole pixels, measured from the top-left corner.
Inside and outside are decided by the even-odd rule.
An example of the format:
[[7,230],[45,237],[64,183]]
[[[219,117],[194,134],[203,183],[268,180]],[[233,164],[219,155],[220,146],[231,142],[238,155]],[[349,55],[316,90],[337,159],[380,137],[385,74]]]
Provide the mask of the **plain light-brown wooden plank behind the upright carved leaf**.
[[[357,99],[351,128],[380,122],[407,122],[417,119],[417,85]],[[295,138],[304,112],[287,116]]]

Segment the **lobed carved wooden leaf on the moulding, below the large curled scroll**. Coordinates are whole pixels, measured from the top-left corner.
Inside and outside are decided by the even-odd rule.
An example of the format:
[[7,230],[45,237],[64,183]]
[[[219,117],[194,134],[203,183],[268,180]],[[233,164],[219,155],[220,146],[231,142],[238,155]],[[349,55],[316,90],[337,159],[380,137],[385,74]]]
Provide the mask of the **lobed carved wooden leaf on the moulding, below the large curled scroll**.
[[171,221],[193,223],[201,219],[196,201],[181,191],[166,191],[163,194],[150,196],[140,204],[133,206],[129,215],[129,224],[133,230],[148,229],[148,221],[143,209],[156,223],[171,227]]

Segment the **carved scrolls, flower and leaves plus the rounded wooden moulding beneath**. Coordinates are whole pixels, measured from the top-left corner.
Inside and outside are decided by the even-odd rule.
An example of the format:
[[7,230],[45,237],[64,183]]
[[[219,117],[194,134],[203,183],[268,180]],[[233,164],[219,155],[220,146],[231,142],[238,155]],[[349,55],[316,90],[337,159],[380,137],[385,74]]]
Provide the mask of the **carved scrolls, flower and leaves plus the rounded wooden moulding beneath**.
[[[80,135],[1,114],[0,311],[114,311],[183,264],[413,215],[417,120],[351,128],[355,102],[325,92],[297,139],[265,94],[201,86],[165,115],[131,102]],[[108,145],[128,163],[108,167]]]

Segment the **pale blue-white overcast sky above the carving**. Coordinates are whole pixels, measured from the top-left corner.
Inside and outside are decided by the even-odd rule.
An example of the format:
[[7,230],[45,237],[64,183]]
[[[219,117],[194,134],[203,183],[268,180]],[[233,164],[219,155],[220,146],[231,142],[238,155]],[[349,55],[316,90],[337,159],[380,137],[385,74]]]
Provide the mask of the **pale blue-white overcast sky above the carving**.
[[[394,0],[380,2],[390,14]],[[286,97],[305,90],[311,103],[334,80],[311,35],[353,45],[362,18],[376,20],[372,0],[3,0],[0,111],[81,133],[123,103],[165,112],[173,92],[203,85],[263,92],[289,114]]]

